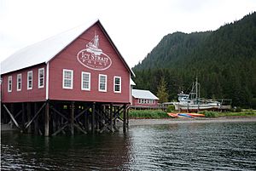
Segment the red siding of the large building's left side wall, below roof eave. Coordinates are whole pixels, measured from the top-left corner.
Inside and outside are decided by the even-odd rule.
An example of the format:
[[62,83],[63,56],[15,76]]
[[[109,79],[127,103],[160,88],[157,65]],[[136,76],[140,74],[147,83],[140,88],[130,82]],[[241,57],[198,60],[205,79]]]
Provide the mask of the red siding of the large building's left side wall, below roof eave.
[[[44,67],[44,88],[38,88],[38,69]],[[32,89],[27,90],[27,71],[32,71]],[[17,75],[21,74],[21,90],[17,91]],[[12,92],[8,92],[8,77],[12,76]],[[46,66],[33,66],[20,71],[4,74],[2,85],[2,102],[30,102],[45,100]]]

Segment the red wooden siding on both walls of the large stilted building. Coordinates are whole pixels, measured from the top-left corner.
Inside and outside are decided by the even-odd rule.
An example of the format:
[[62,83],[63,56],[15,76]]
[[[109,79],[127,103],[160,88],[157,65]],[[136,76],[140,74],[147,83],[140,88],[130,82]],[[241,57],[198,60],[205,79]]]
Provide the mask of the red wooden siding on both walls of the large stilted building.
[[[112,60],[112,65],[103,71],[96,71],[83,66],[77,60],[77,54],[82,49],[86,48],[86,44],[90,43],[91,39],[99,36],[100,48],[104,54]],[[36,56],[35,56],[36,58]],[[114,49],[106,32],[101,27],[99,22],[90,26],[87,31],[84,31],[73,43],[70,43],[66,48],[49,61],[49,82],[48,94],[46,92],[47,83],[47,65],[41,64],[32,66],[20,71],[13,71],[2,75],[2,100],[8,102],[30,102],[49,100],[79,100],[79,101],[95,101],[95,102],[112,102],[129,104],[131,98],[130,77],[131,72],[125,65],[121,56]],[[38,69],[44,67],[44,88],[38,88]],[[63,69],[73,71],[73,88],[62,88]],[[27,89],[27,71],[32,71],[32,89]],[[81,88],[81,73],[90,73],[90,91],[82,90]],[[21,91],[17,91],[17,74],[22,74]],[[107,75],[107,92],[100,92],[99,75]],[[8,92],[8,77],[12,76],[12,92]],[[114,77],[121,77],[121,92],[114,93]]]

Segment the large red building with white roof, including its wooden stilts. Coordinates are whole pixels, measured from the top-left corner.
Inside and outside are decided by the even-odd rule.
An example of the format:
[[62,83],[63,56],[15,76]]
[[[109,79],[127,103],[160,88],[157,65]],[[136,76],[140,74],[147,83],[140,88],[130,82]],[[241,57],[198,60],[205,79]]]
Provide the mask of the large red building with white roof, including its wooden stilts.
[[[121,113],[125,128],[132,75],[108,32],[96,20],[4,60],[2,110],[16,127],[46,136],[63,131],[73,134],[73,128],[86,133],[89,126],[92,132],[113,131]],[[38,120],[44,121],[44,131]]]

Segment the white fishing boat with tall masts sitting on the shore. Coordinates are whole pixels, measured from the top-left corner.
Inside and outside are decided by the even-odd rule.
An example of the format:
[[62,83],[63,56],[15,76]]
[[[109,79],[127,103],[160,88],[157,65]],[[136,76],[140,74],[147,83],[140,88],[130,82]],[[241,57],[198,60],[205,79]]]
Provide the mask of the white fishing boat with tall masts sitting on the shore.
[[200,98],[200,84],[197,82],[192,85],[189,94],[177,94],[178,102],[174,103],[177,111],[214,111],[220,109],[221,103],[216,100],[206,100]]

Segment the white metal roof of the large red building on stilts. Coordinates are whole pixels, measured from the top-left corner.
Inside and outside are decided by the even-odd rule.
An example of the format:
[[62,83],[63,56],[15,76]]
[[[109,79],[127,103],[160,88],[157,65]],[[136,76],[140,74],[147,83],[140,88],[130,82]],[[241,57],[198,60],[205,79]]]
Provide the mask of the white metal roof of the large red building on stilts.
[[[88,30],[90,26],[96,24],[96,22],[101,24],[100,20],[90,21],[84,23],[84,25],[75,27],[69,31],[62,32],[54,37],[49,37],[44,41],[34,43],[26,48],[18,50],[15,54],[10,55],[9,58],[1,62],[1,74],[49,62],[49,60],[54,58],[56,54],[60,53],[62,49],[66,48],[84,31]],[[105,32],[107,33],[107,31]],[[118,51],[117,48],[116,50]],[[125,62],[125,59],[122,56],[121,58],[131,71],[131,68]],[[134,75],[133,71],[131,71],[131,74]]]

